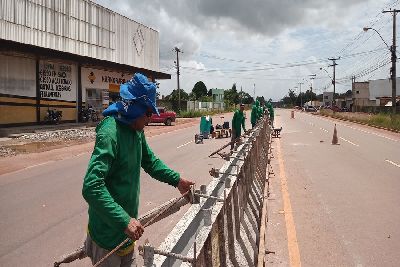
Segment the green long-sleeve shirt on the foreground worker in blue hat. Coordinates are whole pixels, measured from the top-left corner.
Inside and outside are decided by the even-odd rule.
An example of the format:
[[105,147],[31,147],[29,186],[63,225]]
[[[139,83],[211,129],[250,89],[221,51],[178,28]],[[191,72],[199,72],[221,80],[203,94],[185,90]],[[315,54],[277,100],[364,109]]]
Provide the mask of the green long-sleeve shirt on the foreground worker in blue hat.
[[138,216],[140,167],[172,186],[178,185],[180,175],[155,157],[143,131],[106,117],[96,133],[82,195],[89,204],[91,238],[111,250],[127,238],[124,230]]

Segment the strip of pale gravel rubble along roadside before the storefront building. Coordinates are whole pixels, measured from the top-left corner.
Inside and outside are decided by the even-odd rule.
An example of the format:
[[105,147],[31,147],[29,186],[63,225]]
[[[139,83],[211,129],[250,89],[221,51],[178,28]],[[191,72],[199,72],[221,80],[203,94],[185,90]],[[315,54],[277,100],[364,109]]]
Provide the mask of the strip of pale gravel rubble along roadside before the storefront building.
[[24,134],[16,138],[16,140],[29,140],[31,142],[42,142],[49,140],[81,140],[81,139],[95,139],[96,132],[95,128],[81,128],[81,129],[68,129],[68,130],[58,130],[50,132],[38,132]]

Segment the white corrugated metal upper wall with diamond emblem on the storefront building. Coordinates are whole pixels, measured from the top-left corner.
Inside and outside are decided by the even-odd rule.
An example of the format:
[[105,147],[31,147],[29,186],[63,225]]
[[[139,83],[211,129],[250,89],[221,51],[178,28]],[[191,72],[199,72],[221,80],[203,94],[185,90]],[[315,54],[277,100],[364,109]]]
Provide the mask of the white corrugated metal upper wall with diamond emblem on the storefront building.
[[89,0],[0,1],[0,39],[159,71],[158,38]]

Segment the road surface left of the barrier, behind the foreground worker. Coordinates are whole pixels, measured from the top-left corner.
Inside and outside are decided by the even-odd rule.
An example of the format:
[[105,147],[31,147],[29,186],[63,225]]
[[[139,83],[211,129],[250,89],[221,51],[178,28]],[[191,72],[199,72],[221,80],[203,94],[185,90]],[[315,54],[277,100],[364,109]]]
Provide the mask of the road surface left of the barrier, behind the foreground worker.
[[[226,120],[231,116],[213,118],[214,124]],[[208,155],[230,140],[194,144],[198,129],[196,125],[172,131],[150,137],[148,142],[167,165],[200,185],[212,179],[208,173],[212,167],[224,164],[224,160]],[[52,266],[61,255],[83,243],[87,205],[81,188],[89,157],[90,153],[80,153],[65,160],[47,160],[0,176],[0,266]],[[139,214],[178,195],[177,189],[142,172]],[[152,245],[161,243],[187,208],[146,228],[139,244],[145,239]],[[90,264],[86,259],[68,266]]]

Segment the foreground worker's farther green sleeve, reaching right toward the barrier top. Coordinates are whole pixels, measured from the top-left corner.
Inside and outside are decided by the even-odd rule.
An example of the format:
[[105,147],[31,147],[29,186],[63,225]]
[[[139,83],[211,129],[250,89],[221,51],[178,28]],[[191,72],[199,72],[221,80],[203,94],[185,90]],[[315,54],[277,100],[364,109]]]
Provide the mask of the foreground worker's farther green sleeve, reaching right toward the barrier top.
[[171,170],[159,158],[157,158],[153,151],[147,144],[146,138],[142,133],[142,168],[154,179],[172,185],[178,186],[180,175],[179,173]]

